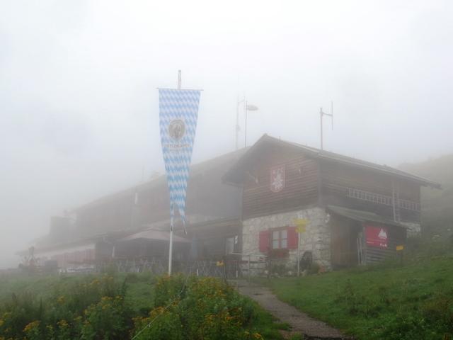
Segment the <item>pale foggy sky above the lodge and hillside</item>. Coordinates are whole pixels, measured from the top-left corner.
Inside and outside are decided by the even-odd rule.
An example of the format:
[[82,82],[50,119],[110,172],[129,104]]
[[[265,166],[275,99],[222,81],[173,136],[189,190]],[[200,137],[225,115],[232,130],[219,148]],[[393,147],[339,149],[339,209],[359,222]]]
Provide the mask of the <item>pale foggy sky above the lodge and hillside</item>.
[[50,215],[164,171],[156,87],[178,69],[204,89],[193,162],[234,149],[244,93],[260,108],[249,144],[267,132],[319,147],[333,100],[326,149],[394,166],[452,153],[452,7],[2,1],[0,268]]

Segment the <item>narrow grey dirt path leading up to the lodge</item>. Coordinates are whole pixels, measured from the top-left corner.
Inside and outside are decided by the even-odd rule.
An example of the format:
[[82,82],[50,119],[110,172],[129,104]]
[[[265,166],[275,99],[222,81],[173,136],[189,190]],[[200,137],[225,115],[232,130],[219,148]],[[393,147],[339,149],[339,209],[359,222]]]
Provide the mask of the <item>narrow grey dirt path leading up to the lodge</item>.
[[243,295],[256,300],[265,310],[268,310],[274,317],[282,322],[287,322],[292,327],[292,332],[304,334],[304,339],[351,339],[342,334],[338,329],[300,312],[295,307],[282,302],[268,289],[246,281],[233,283]]

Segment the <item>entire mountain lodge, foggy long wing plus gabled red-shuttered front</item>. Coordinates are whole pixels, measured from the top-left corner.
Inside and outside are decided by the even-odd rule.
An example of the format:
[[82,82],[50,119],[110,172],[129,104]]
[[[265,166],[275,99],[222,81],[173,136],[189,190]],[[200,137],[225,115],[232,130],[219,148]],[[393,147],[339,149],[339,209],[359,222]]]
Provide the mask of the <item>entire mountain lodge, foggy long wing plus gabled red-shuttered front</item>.
[[[420,186],[440,187],[389,166],[263,135],[248,149],[191,166],[188,235],[176,226],[174,259],[244,263],[253,254],[287,270],[302,254],[326,270],[381,261],[420,233]],[[35,246],[42,261],[69,268],[168,259],[165,176],[72,214],[74,225],[52,219],[50,234]]]

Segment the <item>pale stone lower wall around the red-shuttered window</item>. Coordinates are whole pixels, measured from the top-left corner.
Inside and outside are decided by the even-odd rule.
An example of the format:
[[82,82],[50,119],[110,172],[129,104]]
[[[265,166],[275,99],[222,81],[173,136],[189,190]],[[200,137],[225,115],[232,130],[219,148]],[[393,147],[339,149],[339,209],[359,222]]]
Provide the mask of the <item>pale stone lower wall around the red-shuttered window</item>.
[[[301,235],[301,256],[311,251],[313,261],[326,269],[331,268],[331,229],[326,224],[328,215],[323,208],[309,208],[275,215],[251,218],[243,221],[243,254],[262,254],[259,249],[259,233],[277,227],[294,226],[294,220],[309,220],[306,232]],[[244,257],[244,260],[245,257]],[[289,257],[280,260],[288,270],[297,268],[297,249],[289,249]]]

